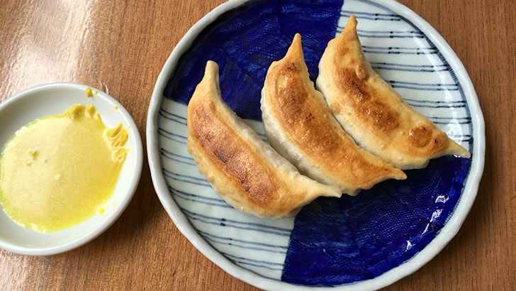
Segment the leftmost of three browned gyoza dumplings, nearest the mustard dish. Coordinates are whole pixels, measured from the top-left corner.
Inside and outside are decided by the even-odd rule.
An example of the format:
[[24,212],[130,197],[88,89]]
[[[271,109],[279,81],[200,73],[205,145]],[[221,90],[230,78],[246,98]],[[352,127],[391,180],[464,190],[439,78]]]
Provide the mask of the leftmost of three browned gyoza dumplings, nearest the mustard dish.
[[215,192],[241,212],[293,216],[320,196],[340,197],[298,170],[242,121],[220,96],[218,65],[206,72],[188,105],[187,147]]

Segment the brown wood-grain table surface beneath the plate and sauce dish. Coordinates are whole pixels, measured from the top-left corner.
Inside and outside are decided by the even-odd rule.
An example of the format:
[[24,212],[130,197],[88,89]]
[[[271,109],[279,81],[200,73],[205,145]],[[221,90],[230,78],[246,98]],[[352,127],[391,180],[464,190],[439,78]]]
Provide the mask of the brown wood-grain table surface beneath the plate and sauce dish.
[[[144,139],[152,89],[186,31],[222,0],[0,2],[0,101],[47,82],[99,87]],[[516,288],[516,1],[402,0],[448,41],[486,120],[473,209],[444,251],[386,290]],[[145,160],[128,209],[91,243],[57,256],[0,250],[0,290],[254,290],[211,263],[159,203]]]

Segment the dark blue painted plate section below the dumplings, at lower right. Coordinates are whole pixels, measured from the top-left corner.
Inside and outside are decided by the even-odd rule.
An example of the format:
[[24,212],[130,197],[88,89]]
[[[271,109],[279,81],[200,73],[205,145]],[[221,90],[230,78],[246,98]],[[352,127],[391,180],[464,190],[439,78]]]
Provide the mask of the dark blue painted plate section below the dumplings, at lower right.
[[357,197],[318,199],[294,224],[283,280],[341,285],[376,278],[425,248],[452,214],[470,160],[444,157]]

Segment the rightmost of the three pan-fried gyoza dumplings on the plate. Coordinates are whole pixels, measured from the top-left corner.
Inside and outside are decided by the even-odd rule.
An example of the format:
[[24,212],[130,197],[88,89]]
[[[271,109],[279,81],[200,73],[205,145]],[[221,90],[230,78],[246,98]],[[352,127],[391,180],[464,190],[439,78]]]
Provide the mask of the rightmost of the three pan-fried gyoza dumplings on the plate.
[[396,168],[424,168],[430,159],[470,153],[410,107],[371,69],[357,19],[330,40],[319,62],[317,87],[333,115],[359,144]]

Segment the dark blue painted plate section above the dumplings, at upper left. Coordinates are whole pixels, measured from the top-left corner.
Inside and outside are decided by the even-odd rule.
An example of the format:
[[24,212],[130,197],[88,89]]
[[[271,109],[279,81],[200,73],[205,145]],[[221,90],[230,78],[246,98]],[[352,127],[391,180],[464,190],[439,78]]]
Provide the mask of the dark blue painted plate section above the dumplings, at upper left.
[[296,33],[310,76],[318,75],[325,43],[335,37],[342,1],[256,1],[224,13],[199,34],[179,60],[164,96],[188,103],[207,60],[219,65],[220,91],[244,119],[262,120],[260,92],[271,62],[281,58]]

